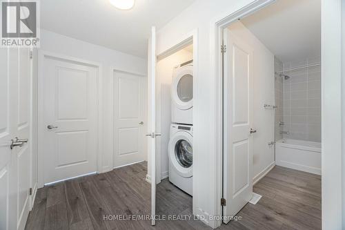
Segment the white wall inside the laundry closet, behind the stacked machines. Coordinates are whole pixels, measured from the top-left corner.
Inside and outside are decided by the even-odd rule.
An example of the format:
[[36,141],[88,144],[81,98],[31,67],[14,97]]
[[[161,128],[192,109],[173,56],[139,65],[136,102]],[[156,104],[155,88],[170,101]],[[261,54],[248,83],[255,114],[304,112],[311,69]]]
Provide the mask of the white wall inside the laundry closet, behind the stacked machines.
[[[167,178],[169,174],[169,159],[168,159],[168,143],[171,124],[171,93],[170,86],[172,82],[172,72],[175,66],[182,64],[186,61],[193,59],[193,52],[186,50],[179,50],[174,54],[157,62],[157,81],[159,82],[159,88],[157,93],[159,94],[159,106],[157,106],[157,113],[160,112],[160,116],[157,115],[157,130],[158,133],[162,133],[160,139],[160,149],[157,150],[157,154],[160,152],[161,156],[161,178]],[[159,117],[161,120],[159,121]],[[160,128],[160,130],[159,130]],[[157,144],[159,148],[159,144]]]

